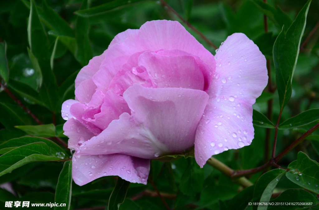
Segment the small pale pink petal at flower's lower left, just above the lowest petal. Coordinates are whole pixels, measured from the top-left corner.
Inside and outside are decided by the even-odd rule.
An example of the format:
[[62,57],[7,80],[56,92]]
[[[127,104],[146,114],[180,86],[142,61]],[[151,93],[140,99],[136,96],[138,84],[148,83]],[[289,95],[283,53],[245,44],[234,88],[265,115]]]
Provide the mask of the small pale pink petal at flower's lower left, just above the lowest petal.
[[77,150],[81,144],[91,139],[94,134],[76,119],[69,119],[63,125],[64,135],[69,137],[68,148]]

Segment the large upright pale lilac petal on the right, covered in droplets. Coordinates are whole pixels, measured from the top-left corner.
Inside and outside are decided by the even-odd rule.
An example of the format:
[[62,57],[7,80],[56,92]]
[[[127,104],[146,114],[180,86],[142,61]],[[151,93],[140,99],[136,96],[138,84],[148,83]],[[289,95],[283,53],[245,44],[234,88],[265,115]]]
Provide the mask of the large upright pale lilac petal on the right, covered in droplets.
[[211,155],[250,145],[252,105],[268,81],[265,57],[244,34],[227,37],[215,58],[210,99],[195,139],[195,158],[201,167]]

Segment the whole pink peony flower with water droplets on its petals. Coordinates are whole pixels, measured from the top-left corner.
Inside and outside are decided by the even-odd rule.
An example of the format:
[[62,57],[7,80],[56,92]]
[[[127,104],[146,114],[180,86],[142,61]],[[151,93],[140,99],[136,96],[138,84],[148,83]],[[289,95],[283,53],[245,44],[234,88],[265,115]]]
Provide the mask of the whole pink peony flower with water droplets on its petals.
[[146,184],[150,159],[195,144],[203,167],[214,154],[250,145],[252,105],[267,80],[265,57],[242,33],[215,57],[176,21],[116,35],[78,73],[75,100],[62,105],[73,180],[118,175]]

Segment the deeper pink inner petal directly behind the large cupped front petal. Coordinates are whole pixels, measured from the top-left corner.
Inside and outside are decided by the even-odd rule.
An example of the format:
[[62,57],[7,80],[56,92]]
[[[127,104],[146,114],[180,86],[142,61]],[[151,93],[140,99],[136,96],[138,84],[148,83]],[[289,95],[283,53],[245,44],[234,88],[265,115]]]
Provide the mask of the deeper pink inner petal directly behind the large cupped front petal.
[[204,90],[204,75],[193,56],[165,56],[147,51],[138,58],[157,87]]

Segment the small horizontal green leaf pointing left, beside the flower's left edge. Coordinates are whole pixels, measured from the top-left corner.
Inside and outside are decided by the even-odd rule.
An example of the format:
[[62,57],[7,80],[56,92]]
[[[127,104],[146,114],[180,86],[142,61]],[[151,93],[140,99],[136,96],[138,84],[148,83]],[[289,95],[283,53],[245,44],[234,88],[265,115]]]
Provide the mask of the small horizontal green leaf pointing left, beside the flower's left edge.
[[53,124],[48,125],[17,125],[16,128],[26,132],[31,136],[38,137],[54,137],[56,136],[56,128]]

